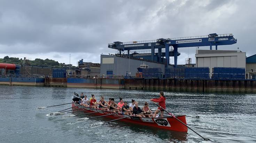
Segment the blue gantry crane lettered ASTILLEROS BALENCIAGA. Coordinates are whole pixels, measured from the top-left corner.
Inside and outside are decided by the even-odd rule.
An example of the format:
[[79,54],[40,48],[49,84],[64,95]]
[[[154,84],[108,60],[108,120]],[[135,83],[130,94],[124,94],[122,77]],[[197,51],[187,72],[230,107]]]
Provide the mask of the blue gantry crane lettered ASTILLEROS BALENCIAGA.
[[174,52],[174,66],[177,66],[178,59],[178,48],[181,47],[200,47],[200,46],[212,46],[217,47],[218,45],[232,45],[235,44],[237,39],[233,37],[233,34],[209,34],[206,36],[192,36],[192,37],[180,37],[180,38],[160,38],[157,40],[149,41],[134,41],[134,42],[114,42],[109,43],[108,47],[119,51],[120,55],[122,51],[127,51],[130,54],[130,50],[142,50],[151,49],[151,59],[154,59],[155,49],[158,49],[158,58],[160,61],[162,48],[165,48],[166,67],[169,65],[169,47],[173,46]]

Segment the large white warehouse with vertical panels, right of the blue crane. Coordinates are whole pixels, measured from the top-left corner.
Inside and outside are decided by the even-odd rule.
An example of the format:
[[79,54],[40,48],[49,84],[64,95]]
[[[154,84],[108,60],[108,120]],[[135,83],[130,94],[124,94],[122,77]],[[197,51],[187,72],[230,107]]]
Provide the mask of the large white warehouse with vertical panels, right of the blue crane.
[[246,52],[230,50],[196,50],[196,67],[246,68]]

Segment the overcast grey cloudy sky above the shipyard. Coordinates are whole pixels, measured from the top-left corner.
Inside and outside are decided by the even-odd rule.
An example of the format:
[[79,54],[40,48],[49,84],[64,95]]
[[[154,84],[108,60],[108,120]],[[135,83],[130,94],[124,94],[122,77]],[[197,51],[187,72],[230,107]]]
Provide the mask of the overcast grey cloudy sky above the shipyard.
[[[255,0],[0,0],[0,58],[53,59],[77,65],[116,53],[108,43],[232,33],[218,50],[256,54]],[[200,47],[209,49],[209,47]],[[195,47],[178,64],[195,63]],[[189,53],[189,55],[188,55]],[[173,63],[173,59],[170,63]]]

